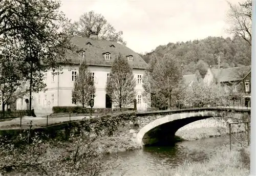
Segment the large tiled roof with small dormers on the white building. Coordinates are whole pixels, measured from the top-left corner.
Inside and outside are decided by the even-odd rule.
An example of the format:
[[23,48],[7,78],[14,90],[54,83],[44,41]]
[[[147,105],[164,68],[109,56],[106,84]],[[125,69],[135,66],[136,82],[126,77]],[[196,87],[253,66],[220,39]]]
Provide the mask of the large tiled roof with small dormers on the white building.
[[[92,45],[87,45],[88,42]],[[72,43],[78,47],[79,50],[83,50],[85,52],[84,59],[86,59],[89,65],[110,67],[115,57],[118,57],[120,53],[124,57],[129,55],[133,56],[133,61],[129,62],[132,68],[146,69],[147,67],[147,63],[139,56],[138,53],[116,42],[76,36],[73,37]],[[112,45],[114,45],[114,47]],[[103,56],[103,54],[107,52],[111,54],[110,60],[105,60]],[[73,63],[80,63],[83,59],[78,57],[78,54],[69,54],[69,58]]]

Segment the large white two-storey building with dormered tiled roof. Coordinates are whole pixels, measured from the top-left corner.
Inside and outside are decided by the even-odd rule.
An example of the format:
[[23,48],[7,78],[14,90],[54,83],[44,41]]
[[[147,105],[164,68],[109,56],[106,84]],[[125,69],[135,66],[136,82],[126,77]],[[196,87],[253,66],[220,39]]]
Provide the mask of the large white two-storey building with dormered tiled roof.
[[[142,97],[142,76],[147,67],[146,62],[138,53],[116,42],[98,40],[96,33],[91,33],[89,38],[74,37],[72,42],[80,50],[77,55],[69,56],[72,59],[73,67],[62,65],[62,74],[52,75],[53,70],[45,73],[45,81],[47,84],[46,92],[32,94],[32,108],[35,112],[51,111],[53,106],[76,106],[72,102],[73,84],[78,74],[79,64],[86,59],[89,70],[94,77],[96,93],[94,98],[94,108],[110,108],[112,104],[109,102],[105,92],[106,80],[111,71],[111,64],[119,53],[129,60],[133,68],[134,79],[136,79],[135,90],[137,92],[137,109],[145,109],[147,102]],[[57,71],[55,71],[57,72]],[[17,109],[29,108],[29,97],[26,96],[18,99],[16,102]]]

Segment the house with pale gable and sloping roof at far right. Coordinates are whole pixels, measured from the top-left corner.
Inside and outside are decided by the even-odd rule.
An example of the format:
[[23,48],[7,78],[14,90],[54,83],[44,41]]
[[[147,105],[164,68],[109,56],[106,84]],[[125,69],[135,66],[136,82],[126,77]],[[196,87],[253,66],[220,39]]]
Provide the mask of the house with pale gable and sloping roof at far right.
[[228,69],[209,68],[204,82],[206,84],[221,83],[226,94],[243,100],[245,106],[250,106],[250,85],[251,85],[251,66],[233,67]]

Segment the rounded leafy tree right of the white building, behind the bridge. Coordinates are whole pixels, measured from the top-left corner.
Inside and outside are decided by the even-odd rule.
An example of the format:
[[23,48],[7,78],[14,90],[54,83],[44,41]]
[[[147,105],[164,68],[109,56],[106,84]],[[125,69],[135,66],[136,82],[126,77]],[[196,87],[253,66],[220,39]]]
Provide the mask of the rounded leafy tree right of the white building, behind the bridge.
[[174,90],[182,79],[180,65],[174,56],[166,54],[156,63],[152,75],[152,89],[167,99],[170,109]]

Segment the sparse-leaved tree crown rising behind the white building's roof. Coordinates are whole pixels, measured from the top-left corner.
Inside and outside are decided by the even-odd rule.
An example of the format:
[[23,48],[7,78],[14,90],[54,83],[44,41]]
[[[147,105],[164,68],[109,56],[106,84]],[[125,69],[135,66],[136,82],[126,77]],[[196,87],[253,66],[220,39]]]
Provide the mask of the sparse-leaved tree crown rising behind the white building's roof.
[[90,31],[95,29],[99,39],[120,42],[126,45],[121,37],[123,32],[116,32],[115,28],[101,14],[90,11],[80,16],[78,21],[71,26],[74,35],[89,37]]

